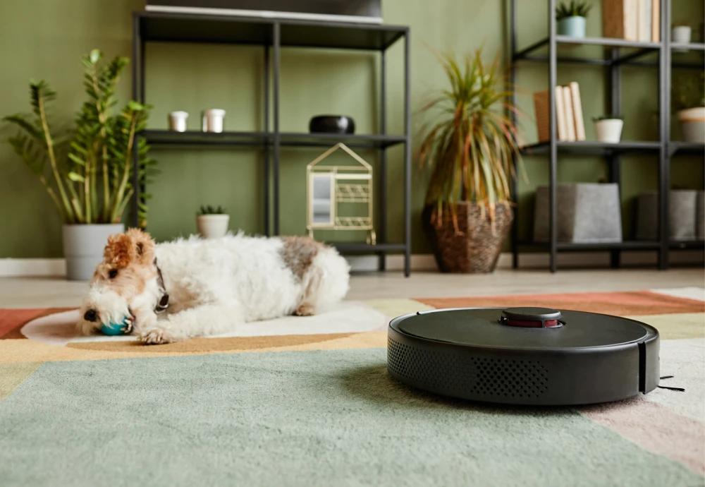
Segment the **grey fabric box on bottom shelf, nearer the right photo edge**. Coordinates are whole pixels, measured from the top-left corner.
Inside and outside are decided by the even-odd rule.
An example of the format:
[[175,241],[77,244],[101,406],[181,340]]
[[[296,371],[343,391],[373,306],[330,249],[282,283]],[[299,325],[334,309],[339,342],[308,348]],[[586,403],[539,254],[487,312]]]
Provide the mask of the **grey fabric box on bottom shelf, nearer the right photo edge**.
[[[668,239],[694,240],[699,211],[698,191],[673,190],[668,193]],[[700,227],[702,224],[700,223]],[[642,193],[637,198],[637,240],[658,240],[658,194]]]

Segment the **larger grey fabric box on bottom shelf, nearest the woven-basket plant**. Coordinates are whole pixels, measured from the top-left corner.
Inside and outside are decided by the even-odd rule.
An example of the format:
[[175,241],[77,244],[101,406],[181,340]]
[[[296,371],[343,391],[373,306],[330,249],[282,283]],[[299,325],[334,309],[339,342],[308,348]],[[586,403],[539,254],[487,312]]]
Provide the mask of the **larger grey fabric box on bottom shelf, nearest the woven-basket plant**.
[[[559,242],[604,244],[622,241],[622,210],[618,184],[558,184]],[[534,241],[548,241],[548,186],[536,190]]]

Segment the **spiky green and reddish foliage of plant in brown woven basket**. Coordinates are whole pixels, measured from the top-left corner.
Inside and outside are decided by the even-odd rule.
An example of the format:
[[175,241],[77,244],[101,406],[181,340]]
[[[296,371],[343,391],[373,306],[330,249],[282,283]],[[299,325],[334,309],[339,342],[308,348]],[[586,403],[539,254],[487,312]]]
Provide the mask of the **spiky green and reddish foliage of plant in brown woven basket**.
[[507,110],[520,114],[510,101],[511,88],[502,88],[498,59],[486,66],[475,51],[458,62],[441,56],[450,86],[440,90],[424,112],[436,115],[422,129],[419,162],[431,167],[426,204],[433,220],[458,219],[455,203],[472,202],[486,209],[493,223],[497,205],[509,205],[513,158],[520,162],[517,126]]

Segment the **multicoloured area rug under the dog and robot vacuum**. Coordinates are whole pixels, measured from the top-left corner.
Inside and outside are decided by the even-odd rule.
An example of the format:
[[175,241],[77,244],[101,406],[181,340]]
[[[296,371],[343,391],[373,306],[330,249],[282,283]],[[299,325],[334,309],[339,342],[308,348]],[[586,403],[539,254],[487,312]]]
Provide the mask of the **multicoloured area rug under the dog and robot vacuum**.
[[[704,289],[345,302],[145,347],[78,311],[0,310],[0,485],[702,486]],[[580,408],[433,397],[386,373],[394,316],[462,306],[629,316],[657,389]]]

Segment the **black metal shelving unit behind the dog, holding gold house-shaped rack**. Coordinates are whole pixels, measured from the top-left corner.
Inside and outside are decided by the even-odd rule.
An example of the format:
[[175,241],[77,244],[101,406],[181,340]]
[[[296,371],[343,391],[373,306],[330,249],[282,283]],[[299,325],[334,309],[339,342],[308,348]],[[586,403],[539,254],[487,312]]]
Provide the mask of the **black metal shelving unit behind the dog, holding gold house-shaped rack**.
[[[386,51],[404,40],[404,133],[386,133]],[[410,30],[406,26],[357,23],[313,22],[236,16],[189,15],[176,13],[135,12],[133,15],[133,99],[145,102],[145,43],[188,42],[205,44],[251,44],[263,47],[264,56],[264,129],[252,132],[203,133],[147,130],[142,135],[152,146],[188,145],[193,147],[226,146],[261,148],[264,152],[264,233],[279,234],[279,168],[282,147],[330,147],[343,142],[350,148],[379,150],[379,200],[376,215],[377,244],[354,242],[331,243],[342,253],[370,253],[379,256],[379,270],[386,268],[388,252],[404,253],[404,273],[410,275],[411,259],[411,112],[410,112]],[[380,52],[381,83],[379,134],[340,136],[325,133],[287,133],[279,128],[279,60],[282,47],[355,49]],[[271,100],[270,100],[271,91]],[[271,103],[271,110],[270,110]],[[271,111],[271,122],[270,122]],[[271,128],[270,128],[271,125]],[[387,159],[386,149],[404,146],[404,239],[387,239]],[[136,149],[136,148],[135,148]],[[133,185],[141,188],[134,158]],[[271,187],[270,187],[271,186]],[[135,191],[137,208],[140,192]],[[271,213],[271,221],[270,221]],[[137,226],[137,212],[133,224]]]

